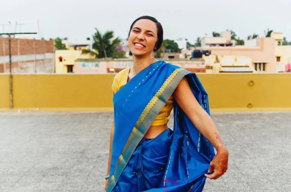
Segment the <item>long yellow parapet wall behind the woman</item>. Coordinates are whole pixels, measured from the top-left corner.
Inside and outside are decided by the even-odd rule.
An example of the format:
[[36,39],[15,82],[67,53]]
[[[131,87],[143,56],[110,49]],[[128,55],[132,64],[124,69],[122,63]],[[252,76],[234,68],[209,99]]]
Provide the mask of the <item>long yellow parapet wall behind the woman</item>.
[[[212,112],[291,110],[291,73],[198,74]],[[14,109],[112,111],[113,74],[14,74]],[[0,75],[0,111],[9,111],[9,75]]]

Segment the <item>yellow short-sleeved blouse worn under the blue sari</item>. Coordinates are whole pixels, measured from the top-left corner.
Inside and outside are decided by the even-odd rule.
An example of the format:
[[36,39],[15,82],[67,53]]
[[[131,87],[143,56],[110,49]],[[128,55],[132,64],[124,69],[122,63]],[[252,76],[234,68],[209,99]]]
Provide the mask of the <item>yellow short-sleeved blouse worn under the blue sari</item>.
[[[121,89],[127,83],[129,69],[130,68],[121,70],[115,75],[113,79],[113,84],[112,84],[112,90],[114,93],[116,93],[119,89]],[[167,124],[170,120],[170,113],[171,113],[171,110],[173,109],[173,106],[174,106],[174,98],[171,96],[151,125],[155,126],[155,125]]]

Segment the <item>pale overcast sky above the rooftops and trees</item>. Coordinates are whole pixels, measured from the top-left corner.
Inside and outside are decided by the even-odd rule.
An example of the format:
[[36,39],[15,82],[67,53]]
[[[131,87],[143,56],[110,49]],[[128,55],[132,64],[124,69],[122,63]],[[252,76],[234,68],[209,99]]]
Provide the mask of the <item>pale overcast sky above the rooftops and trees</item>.
[[[291,0],[1,0],[0,24],[4,32],[38,32],[36,38],[68,37],[83,40],[97,28],[126,38],[134,19],[156,17],[164,28],[164,38],[187,38],[213,31],[234,30],[245,39],[264,30],[283,32],[291,40]],[[19,32],[19,25],[16,31]],[[2,26],[0,26],[0,33]]]

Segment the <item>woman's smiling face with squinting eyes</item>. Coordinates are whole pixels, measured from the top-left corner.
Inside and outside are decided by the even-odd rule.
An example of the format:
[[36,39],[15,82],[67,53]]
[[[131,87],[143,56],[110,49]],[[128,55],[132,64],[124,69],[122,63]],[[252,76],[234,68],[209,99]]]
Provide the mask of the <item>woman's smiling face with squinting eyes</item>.
[[133,25],[128,38],[128,47],[135,56],[152,54],[158,41],[158,28],[149,19],[140,19]]

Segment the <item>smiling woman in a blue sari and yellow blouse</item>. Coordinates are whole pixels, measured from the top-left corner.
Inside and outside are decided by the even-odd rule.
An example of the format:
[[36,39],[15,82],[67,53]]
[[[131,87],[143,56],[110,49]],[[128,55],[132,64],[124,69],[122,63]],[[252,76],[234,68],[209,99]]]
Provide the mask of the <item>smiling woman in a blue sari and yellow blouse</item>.
[[[206,177],[227,170],[228,151],[208,114],[207,93],[194,73],[153,57],[162,42],[155,18],[132,23],[133,66],[112,85],[107,192],[201,192]],[[174,131],[167,126],[173,106]]]

